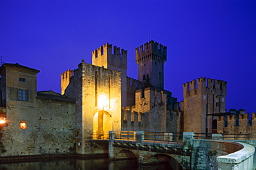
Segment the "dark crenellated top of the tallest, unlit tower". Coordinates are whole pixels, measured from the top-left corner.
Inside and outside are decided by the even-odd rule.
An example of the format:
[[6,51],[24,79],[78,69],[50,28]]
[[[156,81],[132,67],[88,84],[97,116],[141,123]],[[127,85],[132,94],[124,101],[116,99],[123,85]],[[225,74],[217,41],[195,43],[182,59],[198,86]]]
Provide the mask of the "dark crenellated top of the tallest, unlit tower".
[[135,48],[136,53],[136,63],[138,64],[140,60],[147,57],[155,59],[158,62],[166,62],[167,57],[167,46],[159,44],[156,41],[149,41],[140,47]]

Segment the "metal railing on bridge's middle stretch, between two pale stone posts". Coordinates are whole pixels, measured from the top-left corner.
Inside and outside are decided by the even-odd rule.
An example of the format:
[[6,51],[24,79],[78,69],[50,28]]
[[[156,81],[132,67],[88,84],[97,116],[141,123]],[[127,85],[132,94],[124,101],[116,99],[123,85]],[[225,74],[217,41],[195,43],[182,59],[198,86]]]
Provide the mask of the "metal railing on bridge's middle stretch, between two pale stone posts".
[[181,142],[183,133],[144,132],[144,140],[152,142]]

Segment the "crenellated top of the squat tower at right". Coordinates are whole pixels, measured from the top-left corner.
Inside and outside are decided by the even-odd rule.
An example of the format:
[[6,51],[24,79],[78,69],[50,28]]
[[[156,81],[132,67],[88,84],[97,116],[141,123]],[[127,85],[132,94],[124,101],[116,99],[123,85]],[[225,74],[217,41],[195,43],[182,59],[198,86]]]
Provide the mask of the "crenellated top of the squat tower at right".
[[183,96],[209,93],[226,96],[227,82],[218,79],[200,77],[183,84]]

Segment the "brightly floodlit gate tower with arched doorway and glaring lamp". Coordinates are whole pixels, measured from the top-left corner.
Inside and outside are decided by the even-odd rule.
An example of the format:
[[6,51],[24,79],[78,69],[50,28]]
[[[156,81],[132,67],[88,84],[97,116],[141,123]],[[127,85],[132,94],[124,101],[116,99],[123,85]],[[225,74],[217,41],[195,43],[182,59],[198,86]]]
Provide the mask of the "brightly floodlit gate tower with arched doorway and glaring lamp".
[[104,138],[103,131],[121,130],[121,73],[86,64],[74,70],[65,95],[76,101],[77,153],[86,154],[89,139]]

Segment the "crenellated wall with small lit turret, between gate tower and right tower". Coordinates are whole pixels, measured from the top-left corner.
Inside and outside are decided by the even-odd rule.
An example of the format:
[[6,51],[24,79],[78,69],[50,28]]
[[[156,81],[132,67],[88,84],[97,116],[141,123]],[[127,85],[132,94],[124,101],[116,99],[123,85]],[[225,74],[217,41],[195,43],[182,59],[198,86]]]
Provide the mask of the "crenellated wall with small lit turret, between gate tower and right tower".
[[122,130],[176,132],[179,122],[179,111],[167,111],[167,94],[152,87],[136,91],[136,104],[122,108]]

